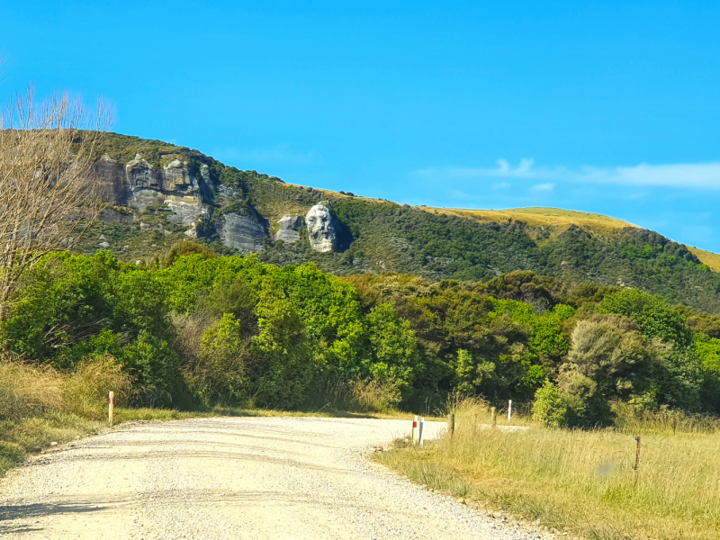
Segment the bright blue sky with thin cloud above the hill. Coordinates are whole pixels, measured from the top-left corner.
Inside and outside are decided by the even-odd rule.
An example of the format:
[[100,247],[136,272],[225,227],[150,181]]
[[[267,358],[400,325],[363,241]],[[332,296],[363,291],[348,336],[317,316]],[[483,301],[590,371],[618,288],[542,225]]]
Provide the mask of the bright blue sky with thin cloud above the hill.
[[720,3],[10,2],[0,97],[293,184],[605,213],[720,252]]

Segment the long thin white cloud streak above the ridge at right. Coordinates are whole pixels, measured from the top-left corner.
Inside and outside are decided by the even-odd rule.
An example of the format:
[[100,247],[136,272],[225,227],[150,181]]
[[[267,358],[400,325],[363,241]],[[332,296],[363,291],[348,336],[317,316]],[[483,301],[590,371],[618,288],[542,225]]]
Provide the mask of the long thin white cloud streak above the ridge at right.
[[[550,182],[575,182],[584,184],[623,184],[641,186],[667,186],[688,188],[720,189],[720,162],[674,163],[637,166],[563,166],[536,167],[532,158],[523,158],[518,166],[512,166],[505,159],[497,161],[498,166],[446,167],[418,171],[426,176],[455,178],[526,178]],[[501,183],[504,184],[504,183]],[[495,184],[497,187],[501,184]],[[538,184],[543,185],[543,184]],[[547,189],[547,188],[545,188]]]

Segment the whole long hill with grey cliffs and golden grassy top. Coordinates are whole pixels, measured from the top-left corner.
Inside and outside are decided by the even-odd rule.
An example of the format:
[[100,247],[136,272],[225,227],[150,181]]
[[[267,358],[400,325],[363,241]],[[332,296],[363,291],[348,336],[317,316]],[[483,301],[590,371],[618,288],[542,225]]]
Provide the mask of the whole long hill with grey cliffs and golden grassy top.
[[97,171],[112,208],[85,238],[85,253],[147,258],[191,237],[220,253],[257,252],[277,265],[312,261],[338,275],[478,281],[531,270],[720,312],[715,254],[607,216],[411,207],[285,184],[197,150],[117,134],[98,154]]

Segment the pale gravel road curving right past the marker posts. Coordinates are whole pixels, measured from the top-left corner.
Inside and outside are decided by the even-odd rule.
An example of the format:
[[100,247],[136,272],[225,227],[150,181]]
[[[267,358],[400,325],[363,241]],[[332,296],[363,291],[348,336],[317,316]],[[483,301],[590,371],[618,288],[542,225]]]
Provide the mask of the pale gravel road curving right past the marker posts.
[[[444,424],[428,422],[428,437]],[[0,481],[7,538],[550,539],[367,461],[409,422],[220,418],[121,425]]]

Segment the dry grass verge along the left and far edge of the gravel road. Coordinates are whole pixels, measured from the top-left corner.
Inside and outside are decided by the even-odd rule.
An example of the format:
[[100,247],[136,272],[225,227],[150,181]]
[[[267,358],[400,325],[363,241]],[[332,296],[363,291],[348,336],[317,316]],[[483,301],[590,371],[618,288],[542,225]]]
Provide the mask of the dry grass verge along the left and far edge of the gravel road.
[[[314,416],[368,417],[345,410],[258,410],[215,407],[206,410],[136,409],[123,407],[133,392],[132,380],[111,356],[85,360],[71,373],[60,373],[49,365],[23,363],[20,358],[0,355],[0,476],[41,452],[51,443],[61,445],[108,429],[107,392],[115,393],[115,424],[130,420],[177,420],[218,416]],[[410,419],[393,410],[387,389],[365,384],[349,389],[349,399],[375,409],[374,418]],[[372,407],[371,407],[372,406]]]

